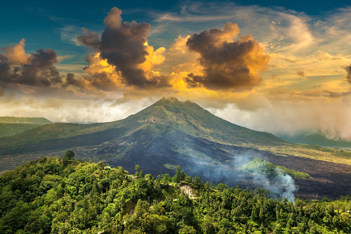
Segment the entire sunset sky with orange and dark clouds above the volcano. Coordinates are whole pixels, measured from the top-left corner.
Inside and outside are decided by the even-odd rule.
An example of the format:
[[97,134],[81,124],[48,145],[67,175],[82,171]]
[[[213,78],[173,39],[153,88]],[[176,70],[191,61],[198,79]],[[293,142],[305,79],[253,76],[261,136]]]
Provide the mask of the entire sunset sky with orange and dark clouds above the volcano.
[[0,116],[126,118],[163,96],[238,125],[351,141],[347,1],[15,1]]

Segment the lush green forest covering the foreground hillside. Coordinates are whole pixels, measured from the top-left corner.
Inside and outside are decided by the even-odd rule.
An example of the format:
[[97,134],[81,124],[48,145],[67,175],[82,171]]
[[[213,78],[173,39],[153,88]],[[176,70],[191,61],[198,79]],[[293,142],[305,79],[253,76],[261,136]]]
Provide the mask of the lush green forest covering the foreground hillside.
[[204,183],[180,165],[173,177],[142,169],[128,174],[73,151],[27,162],[0,178],[0,233],[351,233],[350,196],[292,203]]

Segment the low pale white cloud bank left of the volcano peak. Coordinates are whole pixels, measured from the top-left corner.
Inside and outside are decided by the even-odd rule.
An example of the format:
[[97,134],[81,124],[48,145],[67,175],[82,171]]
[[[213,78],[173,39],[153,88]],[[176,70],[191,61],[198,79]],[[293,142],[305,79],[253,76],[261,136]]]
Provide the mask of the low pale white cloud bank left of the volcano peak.
[[58,96],[41,98],[29,95],[4,96],[2,100],[2,115],[45,117],[54,122],[115,121],[135,114],[157,101],[156,98],[122,99],[120,96],[72,101]]

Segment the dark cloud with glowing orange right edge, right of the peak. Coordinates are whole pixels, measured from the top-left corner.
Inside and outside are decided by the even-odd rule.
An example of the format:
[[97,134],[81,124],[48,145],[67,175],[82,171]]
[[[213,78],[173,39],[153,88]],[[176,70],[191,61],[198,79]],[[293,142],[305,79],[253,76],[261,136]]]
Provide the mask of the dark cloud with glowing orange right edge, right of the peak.
[[186,42],[190,51],[200,54],[203,74],[189,74],[185,81],[190,87],[208,89],[252,89],[261,83],[259,75],[269,61],[252,35],[241,36],[237,24],[227,22],[224,29],[210,29],[193,34]]

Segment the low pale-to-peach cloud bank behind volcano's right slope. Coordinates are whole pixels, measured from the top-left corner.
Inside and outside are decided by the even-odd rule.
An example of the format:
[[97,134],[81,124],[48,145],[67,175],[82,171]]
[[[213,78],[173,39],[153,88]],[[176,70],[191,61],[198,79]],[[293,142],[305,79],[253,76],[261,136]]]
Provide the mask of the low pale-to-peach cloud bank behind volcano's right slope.
[[[237,104],[229,104],[224,109],[209,111],[232,123],[257,131],[290,136],[322,132],[328,139],[351,141],[351,95],[343,98],[349,98],[349,102],[340,103],[339,99],[332,99],[328,103],[323,102],[323,99],[311,99],[300,105],[298,100],[291,98],[286,101],[278,94],[275,100],[267,100],[270,105],[256,110],[245,110]],[[246,101],[255,103],[258,100]],[[320,107],[321,103],[323,108]]]

